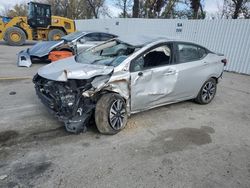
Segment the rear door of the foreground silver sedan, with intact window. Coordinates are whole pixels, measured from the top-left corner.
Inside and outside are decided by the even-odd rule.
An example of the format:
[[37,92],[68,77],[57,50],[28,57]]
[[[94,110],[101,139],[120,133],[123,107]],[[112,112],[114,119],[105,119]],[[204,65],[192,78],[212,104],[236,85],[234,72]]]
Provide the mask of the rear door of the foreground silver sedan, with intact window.
[[206,81],[209,65],[207,50],[192,43],[175,43],[177,60],[173,64],[178,70],[175,90],[169,98],[180,101],[195,98],[202,84]]

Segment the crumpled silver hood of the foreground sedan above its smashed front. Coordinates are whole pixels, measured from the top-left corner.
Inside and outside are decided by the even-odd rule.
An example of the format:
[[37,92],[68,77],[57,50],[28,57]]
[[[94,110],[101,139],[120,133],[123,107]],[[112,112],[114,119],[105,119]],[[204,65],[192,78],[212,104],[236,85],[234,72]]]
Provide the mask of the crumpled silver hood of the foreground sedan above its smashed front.
[[89,79],[94,76],[107,75],[114,69],[111,66],[77,63],[74,57],[45,65],[38,70],[38,74],[49,80],[67,81],[68,79]]

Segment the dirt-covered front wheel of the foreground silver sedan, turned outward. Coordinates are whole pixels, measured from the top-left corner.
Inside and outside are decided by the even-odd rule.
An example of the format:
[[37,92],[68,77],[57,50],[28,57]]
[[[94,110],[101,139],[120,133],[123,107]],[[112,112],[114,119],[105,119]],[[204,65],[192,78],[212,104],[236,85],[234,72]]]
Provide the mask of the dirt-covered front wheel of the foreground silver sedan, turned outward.
[[103,134],[116,134],[127,124],[127,110],[124,99],[115,93],[108,93],[97,101],[95,122]]

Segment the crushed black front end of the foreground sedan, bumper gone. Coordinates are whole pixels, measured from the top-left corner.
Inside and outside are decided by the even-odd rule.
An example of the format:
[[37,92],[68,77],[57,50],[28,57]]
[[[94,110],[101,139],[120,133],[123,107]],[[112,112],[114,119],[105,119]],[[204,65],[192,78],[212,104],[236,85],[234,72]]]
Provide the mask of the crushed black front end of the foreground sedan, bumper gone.
[[73,133],[85,131],[93,114],[95,101],[82,95],[84,91],[92,88],[92,80],[93,78],[63,82],[49,80],[38,74],[33,78],[38,97],[64,122],[66,130]]

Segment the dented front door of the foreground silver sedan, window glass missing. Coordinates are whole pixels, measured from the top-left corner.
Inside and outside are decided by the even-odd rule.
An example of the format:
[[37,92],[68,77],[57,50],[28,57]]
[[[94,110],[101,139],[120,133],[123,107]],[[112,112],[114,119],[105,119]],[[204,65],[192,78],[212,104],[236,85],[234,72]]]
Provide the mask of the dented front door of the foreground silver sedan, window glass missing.
[[171,65],[172,51],[172,43],[157,45],[130,63],[131,112],[168,101],[178,79],[178,70]]

